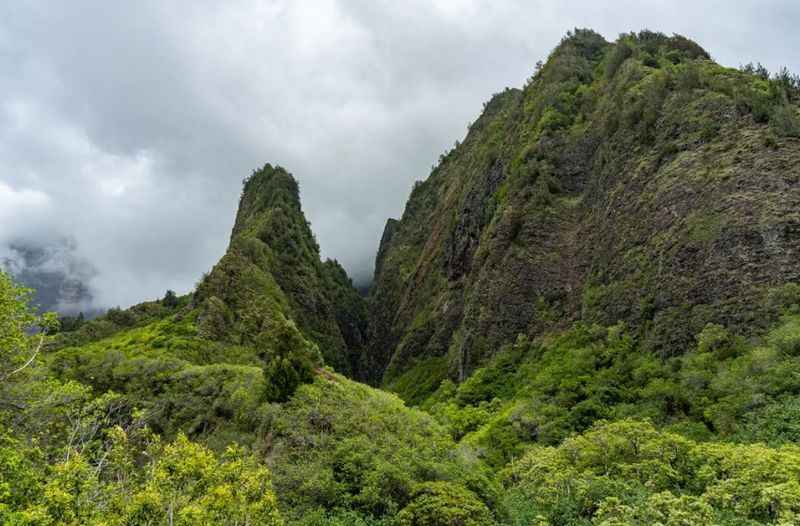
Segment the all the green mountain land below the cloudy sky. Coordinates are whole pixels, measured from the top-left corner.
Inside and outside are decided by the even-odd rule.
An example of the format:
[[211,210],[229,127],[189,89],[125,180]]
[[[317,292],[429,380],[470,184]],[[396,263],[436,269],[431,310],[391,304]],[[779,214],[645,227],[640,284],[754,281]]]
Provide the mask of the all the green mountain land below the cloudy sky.
[[186,296],[59,323],[0,272],[0,523],[800,523],[798,99],[575,30],[366,299],[269,164]]

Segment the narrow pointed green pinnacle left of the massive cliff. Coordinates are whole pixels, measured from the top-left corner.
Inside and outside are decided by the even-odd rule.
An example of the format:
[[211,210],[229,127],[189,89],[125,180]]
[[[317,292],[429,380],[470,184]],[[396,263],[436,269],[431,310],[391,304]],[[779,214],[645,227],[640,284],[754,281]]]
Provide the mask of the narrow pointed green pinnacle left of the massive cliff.
[[194,301],[209,337],[257,345],[291,319],[327,364],[360,374],[364,301],[336,261],[320,260],[297,181],[281,167],[268,164],[245,181],[228,250]]

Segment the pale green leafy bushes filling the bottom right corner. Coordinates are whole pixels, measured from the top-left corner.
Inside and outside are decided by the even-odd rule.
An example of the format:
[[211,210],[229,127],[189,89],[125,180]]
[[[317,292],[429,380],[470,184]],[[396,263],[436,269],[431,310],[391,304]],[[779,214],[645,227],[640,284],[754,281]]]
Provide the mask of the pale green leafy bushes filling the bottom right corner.
[[791,524],[798,474],[795,446],[698,443],[623,420],[531,450],[505,480],[515,524]]

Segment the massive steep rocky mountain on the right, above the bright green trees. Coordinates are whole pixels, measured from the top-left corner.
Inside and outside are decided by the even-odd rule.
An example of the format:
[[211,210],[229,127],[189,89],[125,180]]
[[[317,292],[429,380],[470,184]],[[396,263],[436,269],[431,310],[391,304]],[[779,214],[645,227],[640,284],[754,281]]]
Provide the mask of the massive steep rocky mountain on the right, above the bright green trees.
[[463,379],[518,334],[575,320],[683,352],[800,278],[797,83],[680,36],[576,30],[495,95],[390,220],[372,381]]

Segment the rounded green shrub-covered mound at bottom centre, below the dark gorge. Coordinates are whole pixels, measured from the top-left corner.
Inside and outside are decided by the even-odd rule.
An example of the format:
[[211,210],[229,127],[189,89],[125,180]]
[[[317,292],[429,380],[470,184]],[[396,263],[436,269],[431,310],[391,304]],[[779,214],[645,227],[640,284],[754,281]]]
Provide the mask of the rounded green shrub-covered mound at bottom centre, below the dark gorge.
[[413,501],[419,484],[439,480],[497,505],[481,464],[454,453],[433,418],[341,376],[326,373],[301,386],[276,408],[270,429],[275,487],[292,520],[337,508],[366,523],[387,519]]

